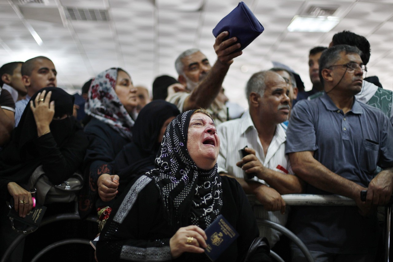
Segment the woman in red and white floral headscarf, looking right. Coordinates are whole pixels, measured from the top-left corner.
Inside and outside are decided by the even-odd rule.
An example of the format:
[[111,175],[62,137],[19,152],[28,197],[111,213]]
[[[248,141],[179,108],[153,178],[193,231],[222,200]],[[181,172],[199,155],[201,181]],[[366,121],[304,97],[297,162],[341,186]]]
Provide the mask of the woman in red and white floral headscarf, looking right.
[[[92,119],[84,128],[89,147],[84,159],[85,190],[79,197],[79,214],[84,217],[94,208],[97,187],[116,195],[118,177],[110,162],[123,146],[132,141],[136,118],[136,89],[130,75],[121,68],[110,68],[92,81],[85,105]],[[98,207],[106,206],[97,203]]]

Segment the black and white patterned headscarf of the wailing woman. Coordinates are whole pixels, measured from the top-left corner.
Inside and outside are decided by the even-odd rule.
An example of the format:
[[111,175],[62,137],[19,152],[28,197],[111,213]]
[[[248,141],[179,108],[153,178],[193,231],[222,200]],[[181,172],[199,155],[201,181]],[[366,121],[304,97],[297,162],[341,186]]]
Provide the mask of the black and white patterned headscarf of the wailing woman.
[[202,170],[188,153],[187,132],[194,111],[178,115],[168,125],[156,158],[158,168],[150,175],[171,223],[191,223],[206,229],[220,214],[222,188],[217,163],[210,170]]

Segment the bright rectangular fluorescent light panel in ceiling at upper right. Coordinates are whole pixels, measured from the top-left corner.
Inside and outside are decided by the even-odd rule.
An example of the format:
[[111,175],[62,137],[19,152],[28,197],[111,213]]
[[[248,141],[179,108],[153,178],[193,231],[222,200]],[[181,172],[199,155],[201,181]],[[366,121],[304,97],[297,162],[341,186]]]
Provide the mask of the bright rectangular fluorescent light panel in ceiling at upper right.
[[338,17],[306,17],[295,15],[288,26],[290,32],[322,32],[332,30],[340,22]]

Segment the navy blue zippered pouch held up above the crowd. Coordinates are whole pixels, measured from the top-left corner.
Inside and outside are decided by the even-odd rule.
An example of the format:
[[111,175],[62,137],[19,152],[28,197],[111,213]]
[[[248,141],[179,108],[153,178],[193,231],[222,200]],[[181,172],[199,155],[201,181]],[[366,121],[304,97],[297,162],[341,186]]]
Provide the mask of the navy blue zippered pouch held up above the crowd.
[[239,5],[222,18],[213,29],[213,35],[217,37],[223,31],[228,31],[229,35],[225,39],[237,37],[237,42],[241,44],[240,48],[235,51],[238,52],[254,41],[263,30],[263,26],[250,8],[244,2],[239,2]]

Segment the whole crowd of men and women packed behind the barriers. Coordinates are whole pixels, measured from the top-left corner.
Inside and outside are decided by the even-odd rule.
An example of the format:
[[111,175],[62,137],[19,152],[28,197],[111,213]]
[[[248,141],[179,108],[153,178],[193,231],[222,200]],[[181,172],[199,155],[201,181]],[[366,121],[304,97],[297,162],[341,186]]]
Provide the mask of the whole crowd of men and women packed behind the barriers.
[[[316,262],[378,261],[376,210],[393,193],[393,96],[377,77],[365,78],[367,39],[342,31],[329,47],[312,48],[309,91],[286,68],[255,72],[239,114],[222,87],[242,55],[227,36],[215,40],[213,65],[198,49],[180,54],[178,78],[157,77],[152,98],[126,70],[109,68],[83,85],[85,103],[76,105],[57,88],[49,58],[3,65],[2,254],[17,236],[5,203],[26,217],[29,178],[42,168],[53,185],[83,173],[78,211],[97,215],[97,261],[210,261],[205,230],[220,215],[239,237],[217,261],[272,261],[282,236],[263,220],[288,227]],[[338,194],[356,206],[289,207],[282,197],[301,193]],[[9,261],[22,261],[23,249]],[[307,261],[292,243],[277,252]]]

